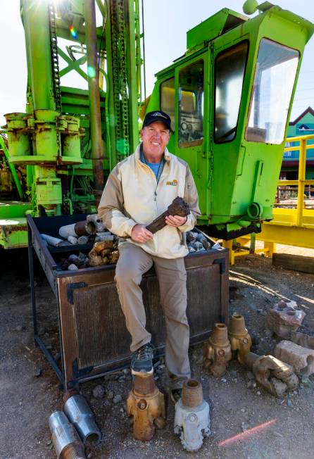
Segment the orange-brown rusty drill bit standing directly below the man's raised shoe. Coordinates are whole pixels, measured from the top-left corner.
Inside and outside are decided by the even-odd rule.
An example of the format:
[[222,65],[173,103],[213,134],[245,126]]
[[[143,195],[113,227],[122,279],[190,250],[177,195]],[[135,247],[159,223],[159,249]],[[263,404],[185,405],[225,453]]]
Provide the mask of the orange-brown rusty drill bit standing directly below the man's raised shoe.
[[127,397],[127,415],[133,424],[134,439],[149,441],[156,427],[165,425],[165,400],[153,375],[135,375],[134,388]]

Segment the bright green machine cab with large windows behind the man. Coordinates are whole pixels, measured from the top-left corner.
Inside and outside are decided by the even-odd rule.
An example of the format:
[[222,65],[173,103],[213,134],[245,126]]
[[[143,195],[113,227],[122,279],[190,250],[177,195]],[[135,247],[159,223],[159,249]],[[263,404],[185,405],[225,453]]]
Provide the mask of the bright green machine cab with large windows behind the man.
[[168,112],[169,149],[189,163],[203,230],[222,239],[272,219],[284,138],[313,24],[268,2],[229,9],[187,32],[187,51],[156,75],[148,111]]

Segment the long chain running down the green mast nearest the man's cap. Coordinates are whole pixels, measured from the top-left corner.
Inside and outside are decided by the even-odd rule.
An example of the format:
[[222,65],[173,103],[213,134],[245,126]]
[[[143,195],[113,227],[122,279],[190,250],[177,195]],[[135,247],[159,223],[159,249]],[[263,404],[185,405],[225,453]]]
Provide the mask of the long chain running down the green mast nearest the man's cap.
[[129,106],[127,97],[127,61],[125,56],[124,1],[111,2],[113,60],[113,98],[115,106],[115,138],[118,158],[129,153]]

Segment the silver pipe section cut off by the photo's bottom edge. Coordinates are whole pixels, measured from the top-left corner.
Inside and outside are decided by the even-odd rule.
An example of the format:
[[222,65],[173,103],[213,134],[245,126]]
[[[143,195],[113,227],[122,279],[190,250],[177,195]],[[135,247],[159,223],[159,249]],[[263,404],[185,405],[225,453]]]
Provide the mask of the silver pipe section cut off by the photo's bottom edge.
[[86,459],[82,441],[63,411],[52,413],[49,429],[57,459]]

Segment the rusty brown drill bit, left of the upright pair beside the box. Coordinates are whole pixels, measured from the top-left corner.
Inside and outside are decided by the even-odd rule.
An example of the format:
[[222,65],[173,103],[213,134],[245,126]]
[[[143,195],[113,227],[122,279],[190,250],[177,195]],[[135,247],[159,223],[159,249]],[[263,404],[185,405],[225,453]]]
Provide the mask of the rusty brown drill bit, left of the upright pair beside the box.
[[208,368],[212,375],[222,377],[231,358],[227,327],[225,324],[215,324],[211,336],[203,346],[203,367]]

